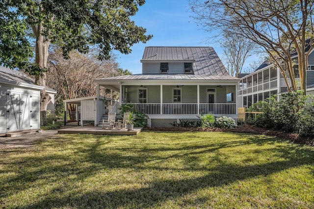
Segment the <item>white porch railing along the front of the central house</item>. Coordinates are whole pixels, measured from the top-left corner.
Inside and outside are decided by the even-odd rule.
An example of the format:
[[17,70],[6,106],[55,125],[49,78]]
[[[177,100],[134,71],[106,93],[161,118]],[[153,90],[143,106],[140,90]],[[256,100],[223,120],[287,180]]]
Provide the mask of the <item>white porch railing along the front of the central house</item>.
[[213,115],[235,115],[236,104],[200,104],[199,112],[196,103],[166,103],[162,104],[162,113],[160,113],[159,103],[133,103],[133,109],[147,115],[197,115],[213,114]]

